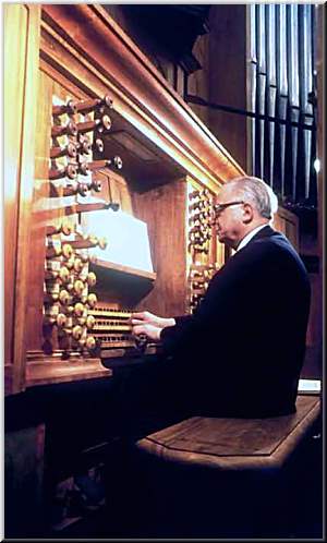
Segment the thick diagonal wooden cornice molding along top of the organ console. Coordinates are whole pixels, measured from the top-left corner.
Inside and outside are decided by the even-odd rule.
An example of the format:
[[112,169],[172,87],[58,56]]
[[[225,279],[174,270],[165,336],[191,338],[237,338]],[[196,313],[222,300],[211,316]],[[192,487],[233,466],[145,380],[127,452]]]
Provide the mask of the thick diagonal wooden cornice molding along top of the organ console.
[[92,96],[110,92],[125,120],[204,184],[244,173],[100,5],[44,4],[40,58]]

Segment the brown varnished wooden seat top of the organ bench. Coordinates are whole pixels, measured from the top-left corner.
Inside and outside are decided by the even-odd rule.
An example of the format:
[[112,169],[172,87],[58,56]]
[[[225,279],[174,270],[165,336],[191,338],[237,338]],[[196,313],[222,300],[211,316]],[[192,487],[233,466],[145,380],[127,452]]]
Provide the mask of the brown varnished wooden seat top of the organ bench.
[[282,466],[317,419],[320,400],[299,396],[296,412],[268,419],[193,417],[148,435],[137,447],[168,461],[220,470]]

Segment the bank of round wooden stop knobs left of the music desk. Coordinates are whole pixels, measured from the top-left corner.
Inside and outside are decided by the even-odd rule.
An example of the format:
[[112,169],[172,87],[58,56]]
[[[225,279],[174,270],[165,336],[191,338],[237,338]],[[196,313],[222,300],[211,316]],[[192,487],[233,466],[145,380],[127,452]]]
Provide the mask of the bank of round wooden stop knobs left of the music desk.
[[[108,96],[104,99],[68,100],[66,104],[53,106],[50,196],[86,196],[89,190],[100,192],[100,181],[92,178],[90,173],[108,167],[121,169],[120,157],[105,160],[92,158],[93,152],[101,154],[105,149],[102,135],[111,128],[106,110],[111,107],[112,100]],[[93,112],[97,119],[80,117]],[[81,181],[80,176],[85,177],[85,182]],[[63,186],[55,182],[61,179],[66,180]],[[96,348],[96,339],[89,334],[95,326],[95,317],[88,314],[97,303],[96,294],[89,292],[96,283],[96,276],[89,272],[87,252],[95,246],[105,249],[107,240],[83,236],[66,224],[47,227],[44,329],[45,336],[52,338],[55,327],[59,347],[65,350],[76,346],[89,351]]]

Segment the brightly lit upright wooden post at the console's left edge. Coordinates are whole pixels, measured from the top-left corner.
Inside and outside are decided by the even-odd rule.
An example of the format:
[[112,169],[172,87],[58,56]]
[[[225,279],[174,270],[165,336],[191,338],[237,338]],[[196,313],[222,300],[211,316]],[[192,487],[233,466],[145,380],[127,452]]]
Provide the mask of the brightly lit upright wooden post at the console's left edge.
[[40,7],[5,7],[5,363],[11,390],[24,388],[27,263],[37,108]]

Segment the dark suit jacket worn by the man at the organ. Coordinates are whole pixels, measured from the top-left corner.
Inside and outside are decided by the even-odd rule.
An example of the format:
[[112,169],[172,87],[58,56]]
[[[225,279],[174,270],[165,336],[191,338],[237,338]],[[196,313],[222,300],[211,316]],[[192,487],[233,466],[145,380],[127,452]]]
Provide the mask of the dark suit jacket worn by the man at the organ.
[[308,311],[302,261],[282,233],[263,228],[216,273],[195,313],[161,331],[195,411],[293,412]]

